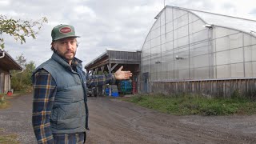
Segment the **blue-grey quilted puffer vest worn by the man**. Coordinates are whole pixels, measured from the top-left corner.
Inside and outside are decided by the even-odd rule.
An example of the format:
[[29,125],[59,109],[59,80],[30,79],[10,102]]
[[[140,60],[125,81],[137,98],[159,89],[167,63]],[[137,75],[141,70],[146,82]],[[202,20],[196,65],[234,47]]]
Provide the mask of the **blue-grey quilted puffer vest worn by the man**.
[[34,74],[40,69],[48,71],[57,84],[57,94],[50,115],[52,133],[84,132],[88,129],[88,107],[86,76],[82,71],[82,64],[78,64],[77,70],[74,71],[66,61],[54,53],[48,61],[38,66]]

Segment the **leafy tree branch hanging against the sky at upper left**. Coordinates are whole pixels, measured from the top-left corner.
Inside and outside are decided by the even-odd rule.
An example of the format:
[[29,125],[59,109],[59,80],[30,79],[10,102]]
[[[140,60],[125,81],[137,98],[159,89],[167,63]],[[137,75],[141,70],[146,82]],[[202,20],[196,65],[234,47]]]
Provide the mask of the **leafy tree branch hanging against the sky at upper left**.
[[2,34],[10,34],[16,41],[20,41],[21,44],[26,42],[27,37],[36,38],[38,30],[41,29],[42,24],[48,22],[46,17],[31,22],[22,19],[7,18],[5,15],[0,14],[0,48],[5,47],[4,38]]

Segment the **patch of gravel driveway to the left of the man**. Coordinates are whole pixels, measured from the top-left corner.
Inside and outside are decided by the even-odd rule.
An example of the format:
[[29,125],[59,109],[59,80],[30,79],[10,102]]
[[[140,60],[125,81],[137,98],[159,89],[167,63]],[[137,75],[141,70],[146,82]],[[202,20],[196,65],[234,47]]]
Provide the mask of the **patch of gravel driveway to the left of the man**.
[[8,98],[8,101],[11,106],[0,110],[0,128],[6,134],[18,134],[18,141],[22,144],[37,143],[31,122],[32,95]]

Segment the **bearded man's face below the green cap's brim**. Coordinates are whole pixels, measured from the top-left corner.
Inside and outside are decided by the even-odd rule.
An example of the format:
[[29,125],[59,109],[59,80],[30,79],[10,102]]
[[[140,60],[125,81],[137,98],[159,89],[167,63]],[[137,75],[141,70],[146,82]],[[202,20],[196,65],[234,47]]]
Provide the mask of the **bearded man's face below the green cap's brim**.
[[74,59],[77,51],[76,38],[63,38],[53,43],[54,49],[57,53],[70,63]]

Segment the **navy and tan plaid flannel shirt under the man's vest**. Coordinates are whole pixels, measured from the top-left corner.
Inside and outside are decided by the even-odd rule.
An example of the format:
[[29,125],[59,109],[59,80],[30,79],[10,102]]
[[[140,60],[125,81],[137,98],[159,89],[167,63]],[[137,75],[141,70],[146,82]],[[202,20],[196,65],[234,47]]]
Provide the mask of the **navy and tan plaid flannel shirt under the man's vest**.
[[[86,77],[87,86],[101,86],[114,83],[114,74],[93,75]],[[54,78],[46,71],[39,70],[34,74],[34,98],[32,124],[38,143],[83,143],[85,135],[80,134],[52,134],[50,130],[50,114],[57,93]]]

